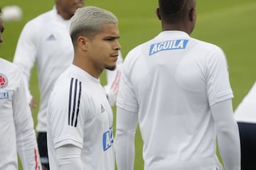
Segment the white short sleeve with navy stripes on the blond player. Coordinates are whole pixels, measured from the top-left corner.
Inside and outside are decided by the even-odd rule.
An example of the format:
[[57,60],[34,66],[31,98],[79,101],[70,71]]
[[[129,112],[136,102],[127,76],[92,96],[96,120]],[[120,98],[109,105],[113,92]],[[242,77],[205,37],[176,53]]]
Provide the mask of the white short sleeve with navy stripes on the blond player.
[[73,79],[67,84],[55,84],[48,103],[53,143],[55,148],[69,144],[82,148],[88,102],[82,96],[80,81]]

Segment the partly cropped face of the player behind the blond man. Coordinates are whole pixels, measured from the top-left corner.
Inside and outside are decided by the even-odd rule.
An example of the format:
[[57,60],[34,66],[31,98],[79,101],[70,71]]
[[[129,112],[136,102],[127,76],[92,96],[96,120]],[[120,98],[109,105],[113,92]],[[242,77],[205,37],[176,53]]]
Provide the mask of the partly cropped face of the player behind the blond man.
[[84,4],[85,0],[56,0],[56,5],[58,6],[58,9],[60,9],[59,12],[65,13],[68,18],[71,18],[75,11],[78,8],[82,8]]

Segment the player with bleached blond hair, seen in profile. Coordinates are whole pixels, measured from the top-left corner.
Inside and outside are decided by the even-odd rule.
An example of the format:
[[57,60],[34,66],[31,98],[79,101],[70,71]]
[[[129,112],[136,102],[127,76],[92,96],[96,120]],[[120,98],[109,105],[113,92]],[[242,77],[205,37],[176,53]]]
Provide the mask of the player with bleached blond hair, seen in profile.
[[48,103],[50,169],[114,170],[113,114],[99,77],[116,68],[117,18],[102,8],[79,8],[70,36],[73,64],[58,77]]

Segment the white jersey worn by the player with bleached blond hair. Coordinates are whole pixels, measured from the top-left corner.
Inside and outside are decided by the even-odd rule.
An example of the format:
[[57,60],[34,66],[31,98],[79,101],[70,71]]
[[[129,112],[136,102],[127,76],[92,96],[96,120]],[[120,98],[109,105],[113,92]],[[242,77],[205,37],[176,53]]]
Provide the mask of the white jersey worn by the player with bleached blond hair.
[[55,149],[75,145],[88,170],[114,170],[112,108],[100,80],[75,65],[60,75],[48,104],[50,169],[58,169]]

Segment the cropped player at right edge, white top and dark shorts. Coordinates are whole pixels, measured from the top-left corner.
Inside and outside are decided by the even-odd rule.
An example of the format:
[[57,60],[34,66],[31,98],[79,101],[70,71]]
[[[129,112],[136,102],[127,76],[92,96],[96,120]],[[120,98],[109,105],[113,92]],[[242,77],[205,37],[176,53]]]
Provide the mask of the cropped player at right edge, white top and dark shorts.
[[256,81],[235,110],[241,141],[241,169],[256,169]]

